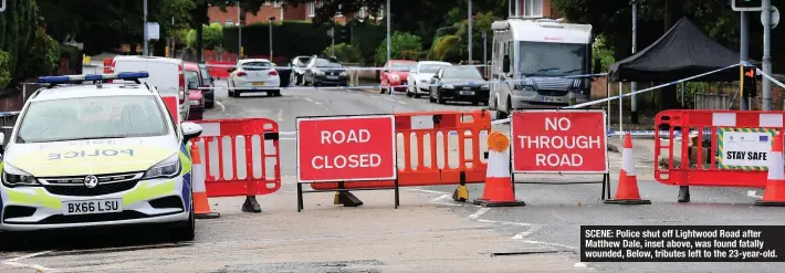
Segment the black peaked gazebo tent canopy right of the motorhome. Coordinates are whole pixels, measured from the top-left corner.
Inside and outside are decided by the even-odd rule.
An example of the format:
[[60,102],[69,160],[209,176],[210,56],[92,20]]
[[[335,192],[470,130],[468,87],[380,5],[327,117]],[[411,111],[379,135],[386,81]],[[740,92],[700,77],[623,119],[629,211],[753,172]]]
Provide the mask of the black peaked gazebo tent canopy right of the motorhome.
[[[610,82],[671,82],[737,64],[733,52],[692,21],[682,18],[648,48],[608,67]],[[695,82],[731,82],[740,77],[739,69],[712,73]]]

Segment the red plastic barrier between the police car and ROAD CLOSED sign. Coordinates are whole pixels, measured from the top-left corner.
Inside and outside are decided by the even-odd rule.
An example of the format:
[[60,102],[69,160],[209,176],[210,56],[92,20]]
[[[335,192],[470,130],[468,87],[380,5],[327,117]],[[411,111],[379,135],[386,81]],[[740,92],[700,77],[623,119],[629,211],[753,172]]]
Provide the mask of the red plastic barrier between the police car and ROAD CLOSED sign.
[[266,118],[195,120],[208,197],[261,196],[281,188],[279,126]]

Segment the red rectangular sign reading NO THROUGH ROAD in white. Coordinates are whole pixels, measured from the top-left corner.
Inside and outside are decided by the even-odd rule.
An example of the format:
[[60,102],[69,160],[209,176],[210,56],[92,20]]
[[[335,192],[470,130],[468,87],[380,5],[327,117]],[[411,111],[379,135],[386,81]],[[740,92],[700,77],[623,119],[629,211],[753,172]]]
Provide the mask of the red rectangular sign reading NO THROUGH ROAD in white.
[[512,115],[514,172],[607,172],[603,111],[525,111]]

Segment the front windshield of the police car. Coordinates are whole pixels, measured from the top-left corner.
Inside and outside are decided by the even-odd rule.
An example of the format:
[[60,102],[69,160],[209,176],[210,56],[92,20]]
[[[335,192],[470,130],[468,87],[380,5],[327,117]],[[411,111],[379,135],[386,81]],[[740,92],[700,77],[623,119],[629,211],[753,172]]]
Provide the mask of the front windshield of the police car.
[[77,97],[30,103],[15,141],[150,137],[168,133],[154,96]]

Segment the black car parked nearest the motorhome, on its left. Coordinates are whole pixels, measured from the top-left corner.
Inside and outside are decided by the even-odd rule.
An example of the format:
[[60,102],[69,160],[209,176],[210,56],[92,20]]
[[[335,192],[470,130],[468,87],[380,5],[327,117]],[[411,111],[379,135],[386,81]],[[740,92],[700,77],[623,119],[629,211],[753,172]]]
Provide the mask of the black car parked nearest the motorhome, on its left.
[[474,105],[486,104],[490,86],[482,74],[473,66],[444,66],[431,77],[431,103],[444,104],[447,101],[471,102]]

